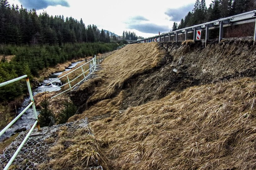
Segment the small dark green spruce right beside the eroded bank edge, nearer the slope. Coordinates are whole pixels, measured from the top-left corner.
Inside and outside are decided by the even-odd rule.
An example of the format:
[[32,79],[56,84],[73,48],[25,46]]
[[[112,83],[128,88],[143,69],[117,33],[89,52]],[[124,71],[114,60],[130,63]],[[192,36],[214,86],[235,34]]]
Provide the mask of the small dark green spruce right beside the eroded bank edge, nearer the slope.
[[74,103],[72,101],[68,101],[68,97],[66,97],[66,100],[63,101],[63,106],[64,108],[58,117],[59,124],[66,123],[68,118],[73,116],[77,111]]

